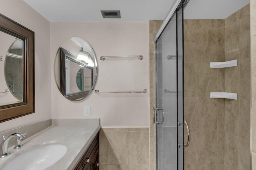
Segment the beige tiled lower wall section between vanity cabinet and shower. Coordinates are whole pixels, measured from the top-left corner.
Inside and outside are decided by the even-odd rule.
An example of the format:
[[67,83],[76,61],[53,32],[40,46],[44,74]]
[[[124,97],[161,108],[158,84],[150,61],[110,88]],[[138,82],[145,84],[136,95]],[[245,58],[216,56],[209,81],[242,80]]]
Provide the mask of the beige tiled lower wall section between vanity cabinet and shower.
[[149,128],[102,127],[100,170],[149,170]]

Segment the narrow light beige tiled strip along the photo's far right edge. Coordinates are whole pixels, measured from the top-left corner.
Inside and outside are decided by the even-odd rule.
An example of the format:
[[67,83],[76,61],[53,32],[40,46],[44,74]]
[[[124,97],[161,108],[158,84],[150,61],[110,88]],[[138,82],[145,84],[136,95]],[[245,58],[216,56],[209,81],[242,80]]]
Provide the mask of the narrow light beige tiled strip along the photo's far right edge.
[[256,170],[256,0],[250,0],[251,37],[251,152],[252,170]]

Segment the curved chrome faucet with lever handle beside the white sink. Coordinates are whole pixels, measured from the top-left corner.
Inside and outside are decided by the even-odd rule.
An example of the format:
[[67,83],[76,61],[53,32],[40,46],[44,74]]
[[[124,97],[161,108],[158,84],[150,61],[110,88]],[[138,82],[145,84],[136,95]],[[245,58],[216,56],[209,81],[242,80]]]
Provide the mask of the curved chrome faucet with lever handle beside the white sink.
[[[25,134],[25,133],[24,133]],[[16,137],[16,146],[14,147],[14,149],[18,149],[21,148],[22,145],[20,144],[20,140],[25,138],[25,136],[23,134],[20,133],[14,133],[11,134],[10,136],[8,136],[8,138],[6,138],[6,136],[3,136],[3,142],[1,144],[1,158],[4,158],[5,156],[9,155],[8,152],[8,143],[10,138]]]

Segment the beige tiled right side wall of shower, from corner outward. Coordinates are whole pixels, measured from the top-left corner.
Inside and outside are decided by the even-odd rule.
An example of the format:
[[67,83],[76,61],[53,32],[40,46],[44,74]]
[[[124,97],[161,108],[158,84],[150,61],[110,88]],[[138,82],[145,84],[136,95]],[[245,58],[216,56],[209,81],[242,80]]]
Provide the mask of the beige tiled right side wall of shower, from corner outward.
[[225,91],[238,100],[225,99],[224,168],[250,170],[250,4],[225,19]]

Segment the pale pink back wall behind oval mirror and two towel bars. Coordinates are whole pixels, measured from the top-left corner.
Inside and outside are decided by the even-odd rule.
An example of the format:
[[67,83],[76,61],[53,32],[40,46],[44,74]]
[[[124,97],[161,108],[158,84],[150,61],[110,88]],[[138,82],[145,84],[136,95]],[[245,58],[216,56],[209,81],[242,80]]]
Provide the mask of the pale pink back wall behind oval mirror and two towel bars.
[[[148,127],[149,93],[96,94],[80,102],[65,99],[54,81],[54,58],[60,44],[70,37],[81,37],[93,47],[98,60],[100,91],[142,91],[148,83],[148,22],[75,22],[51,23],[52,118],[84,118],[84,106],[90,105],[92,117],[102,126]],[[105,55],[143,55],[138,59],[106,59]]]

